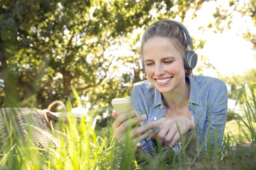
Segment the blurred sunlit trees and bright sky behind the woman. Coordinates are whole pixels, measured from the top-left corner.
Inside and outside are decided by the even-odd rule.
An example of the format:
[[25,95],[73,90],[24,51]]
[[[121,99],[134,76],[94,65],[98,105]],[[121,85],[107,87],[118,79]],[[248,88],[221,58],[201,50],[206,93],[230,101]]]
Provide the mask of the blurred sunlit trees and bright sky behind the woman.
[[226,82],[228,114],[239,113],[239,89],[256,88],[256,2],[248,0],[0,0],[0,107],[61,100],[105,126],[111,99],[145,80],[140,40],[160,19],[187,27],[199,56],[193,74]]

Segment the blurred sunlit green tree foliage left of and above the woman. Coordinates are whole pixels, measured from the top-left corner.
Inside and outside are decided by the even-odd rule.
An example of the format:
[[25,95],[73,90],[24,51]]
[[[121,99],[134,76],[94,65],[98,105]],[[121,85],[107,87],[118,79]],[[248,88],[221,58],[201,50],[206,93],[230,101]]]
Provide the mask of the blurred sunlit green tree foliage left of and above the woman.
[[[0,106],[38,108],[72,99],[71,87],[91,106],[108,106],[114,97],[129,96],[131,84],[145,78],[137,62],[140,34],[134,38],[131,33],[158,19],[184,19],[194,3],[0,2]],[[171,10],[173,5],[179,10]],[[200,8],[202,3],[194,5]],[[122,45],[131,54],[113,53]],[[122,73],[122,65],[129,71]]]

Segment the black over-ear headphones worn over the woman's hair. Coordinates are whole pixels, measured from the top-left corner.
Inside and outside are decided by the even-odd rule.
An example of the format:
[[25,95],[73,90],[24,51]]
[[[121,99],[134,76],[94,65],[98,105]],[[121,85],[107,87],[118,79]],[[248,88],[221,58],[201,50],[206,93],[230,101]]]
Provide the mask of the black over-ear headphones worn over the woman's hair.
[[[156,21],[156,23],[152,23],[151,25],[149,25],[149,27],[151,27],[152,25],[156,25],[157,23],[160,23],[160,22],[174,23],[175,25],[180,27],[180,29],[182,29],[182,31],[186,35],[186,43],[191,48],[191,50],[186,51],[185,58],[184,58],[184,69],[185,70],[194,69],[196,63],[198,62],[198,55],[194,52],[193,41],[192,41],[192,38],[189,36],[189,32],[186,29],[186,27],[177,21],[173,21],[173,20],[169,20],[169,19],[163,19],[160,21]],[[147,29],[149,29],[149,27],[147,27]],[[146,31],[147,31],[147,29],[146,29]],[[142,62],[142,66],[144,67],[144,62]]]

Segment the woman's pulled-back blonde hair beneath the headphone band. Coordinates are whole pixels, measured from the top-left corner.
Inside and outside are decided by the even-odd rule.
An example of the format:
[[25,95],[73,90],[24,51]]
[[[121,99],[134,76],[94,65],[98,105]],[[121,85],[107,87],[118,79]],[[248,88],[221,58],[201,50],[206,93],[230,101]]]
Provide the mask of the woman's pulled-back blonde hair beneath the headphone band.
[[[170,38],[173,45],[178,50],[183,60],[185,58],[186,51],[188,50],[188,45],[186,43],[186,38],[182,29],[175,25],[175,23],[159,22],[149,26],[142,36],[142,42],[140,47],[140,56],[143,58],[143,45],[147,40],[153,37],[164,37]],[[186,75],[191,75],[191,69],[186,70]]]

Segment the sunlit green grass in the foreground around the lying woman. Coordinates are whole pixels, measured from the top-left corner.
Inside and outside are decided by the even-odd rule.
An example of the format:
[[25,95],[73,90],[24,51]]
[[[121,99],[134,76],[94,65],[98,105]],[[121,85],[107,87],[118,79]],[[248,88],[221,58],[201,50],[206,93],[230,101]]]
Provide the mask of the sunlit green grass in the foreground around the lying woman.
[[[253,88],[250,88],[250,95],[246,92],[244,95],[247,97],[244,117],[237,116],[227,123],[222,148],[209,147],[206,152],[198,146],[192,156],[160,149],[158,154],[149,157],[129,140],[126,147],[116,143],[111,123],[94,130],[85,117],[81,122],[69,117],[69,123],[60,122],[55,126],[67,134],[66,140],[59,138],[57,146],[42,149],[9,136],[6,145],[0,148],[0,169],[255,169],[256,99]],[[250,141],[251,145],[244,148],[239,141]]]

